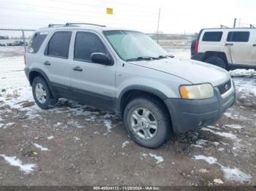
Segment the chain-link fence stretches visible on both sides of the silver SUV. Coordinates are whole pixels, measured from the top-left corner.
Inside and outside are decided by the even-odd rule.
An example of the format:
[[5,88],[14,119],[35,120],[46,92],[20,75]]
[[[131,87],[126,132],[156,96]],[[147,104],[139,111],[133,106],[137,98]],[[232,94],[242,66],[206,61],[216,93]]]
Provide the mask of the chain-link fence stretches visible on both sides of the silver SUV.
[[[29,85],[24,74],[23,55],[34,34],[34,30],[0,28],[0,90]],[[162,47],[175,53],[178,49],[188,49],[195,38],[184,34],[147,34]],[[180,51],[180,50],[179,50]]]

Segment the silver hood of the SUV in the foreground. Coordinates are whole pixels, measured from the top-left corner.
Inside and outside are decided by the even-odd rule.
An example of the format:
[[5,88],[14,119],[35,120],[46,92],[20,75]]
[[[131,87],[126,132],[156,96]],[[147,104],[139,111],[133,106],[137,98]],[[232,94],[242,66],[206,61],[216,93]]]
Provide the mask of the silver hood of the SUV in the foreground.
[[192,84],[208,82],[217,86],[230,79],[230,74],[225,69],[194,60],[163,58],[154,61],[132,61],[129,63],[172,74],[186,79]]

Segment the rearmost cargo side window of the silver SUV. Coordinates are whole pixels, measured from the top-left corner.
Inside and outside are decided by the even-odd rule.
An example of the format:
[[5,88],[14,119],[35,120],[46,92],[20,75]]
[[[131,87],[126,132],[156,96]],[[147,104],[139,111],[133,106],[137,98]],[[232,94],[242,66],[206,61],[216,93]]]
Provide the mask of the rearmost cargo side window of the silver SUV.
[[29,43],[28,52],[37,53],[47,35],[48,32],[36,32]]

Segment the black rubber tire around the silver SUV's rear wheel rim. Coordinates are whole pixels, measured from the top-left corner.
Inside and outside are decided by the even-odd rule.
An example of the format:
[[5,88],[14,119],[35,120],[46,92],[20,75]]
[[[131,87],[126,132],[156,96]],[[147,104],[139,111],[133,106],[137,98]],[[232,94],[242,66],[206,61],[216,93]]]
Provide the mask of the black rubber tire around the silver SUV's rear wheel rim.
[[[43,89],[45,90],[45,102],[42,103],[37,99],[36,93],[35,93],[35,89],[36,86],[41,84]],[[52,93],[50,92],[50,88],[48,87],[47,82],[45,82],[45,79],[43,79],[42,77],[35,77],[33,82],[32,82],[32,92],[33,92],[33,96],[34,96],[34,101],[37,103],[37,106],[39,106],[39,108],[41,109],[48,109],[50,106],[53,106],[54,104],[56,104],[56,102],[58,101],[56,98],[53,98]]]

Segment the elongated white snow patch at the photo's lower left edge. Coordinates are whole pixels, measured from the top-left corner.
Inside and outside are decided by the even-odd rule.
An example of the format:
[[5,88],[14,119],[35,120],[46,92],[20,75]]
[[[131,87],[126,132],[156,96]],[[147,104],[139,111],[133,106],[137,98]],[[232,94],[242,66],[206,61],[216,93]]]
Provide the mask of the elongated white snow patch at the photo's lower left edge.
[[0,157],[3,157],[10,165],[20,168],[20,171],[23,171],[25,174],[31,174],[34,168],[36,168],[35,164],[23,164],[16,156],[8,157],[7,155],[0,155]]

